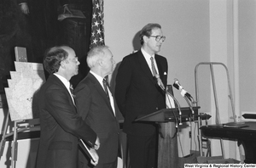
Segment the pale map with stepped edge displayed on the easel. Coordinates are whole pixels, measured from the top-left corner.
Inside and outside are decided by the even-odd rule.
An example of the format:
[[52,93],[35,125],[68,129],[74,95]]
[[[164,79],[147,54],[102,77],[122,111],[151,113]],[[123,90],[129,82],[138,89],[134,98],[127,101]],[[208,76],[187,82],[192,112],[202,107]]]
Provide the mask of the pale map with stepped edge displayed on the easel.
[[9,87],[5,87],[11,120],[28,120],[39,117],[36,93],[45,81],[43,64],[15,62]]

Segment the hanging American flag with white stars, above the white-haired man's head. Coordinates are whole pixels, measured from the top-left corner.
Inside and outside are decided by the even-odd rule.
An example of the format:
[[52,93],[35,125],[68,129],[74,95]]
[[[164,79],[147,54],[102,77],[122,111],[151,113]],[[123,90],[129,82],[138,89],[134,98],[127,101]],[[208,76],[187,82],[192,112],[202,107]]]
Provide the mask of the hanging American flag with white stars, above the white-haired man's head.
[[92,0],[90,48],[105,45],[103,28],[103,0]]

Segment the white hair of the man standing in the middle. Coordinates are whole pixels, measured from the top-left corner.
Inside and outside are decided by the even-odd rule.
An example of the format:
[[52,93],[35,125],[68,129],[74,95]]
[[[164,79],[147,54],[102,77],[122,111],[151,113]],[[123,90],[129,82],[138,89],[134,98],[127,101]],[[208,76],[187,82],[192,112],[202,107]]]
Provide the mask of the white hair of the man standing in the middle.
[[102,59],[102,57],[105,56],[106,49],[108,49],[108,46],[97,46],[90,49],[86,59],[86,62],[90,69],[97,64],[98,60]]

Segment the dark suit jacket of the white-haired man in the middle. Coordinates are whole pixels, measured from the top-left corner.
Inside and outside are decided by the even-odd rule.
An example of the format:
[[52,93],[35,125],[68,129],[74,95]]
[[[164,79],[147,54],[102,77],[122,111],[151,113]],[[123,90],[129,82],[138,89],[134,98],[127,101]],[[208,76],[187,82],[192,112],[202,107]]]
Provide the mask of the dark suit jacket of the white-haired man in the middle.
[[99,164],[113,162],[118,157],[119,122],[101,84],[89,73],[75,88],[75,95],[79,115],[100,138]]

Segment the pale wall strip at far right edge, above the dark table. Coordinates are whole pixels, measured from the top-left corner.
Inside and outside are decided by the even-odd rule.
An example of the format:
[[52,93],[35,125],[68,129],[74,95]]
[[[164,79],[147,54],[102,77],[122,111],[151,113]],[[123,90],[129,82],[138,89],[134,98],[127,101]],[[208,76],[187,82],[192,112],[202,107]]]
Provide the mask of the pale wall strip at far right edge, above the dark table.
[[239,2],[239,76],[241,112],[256,112],[256,1]]

